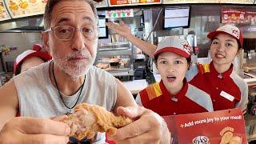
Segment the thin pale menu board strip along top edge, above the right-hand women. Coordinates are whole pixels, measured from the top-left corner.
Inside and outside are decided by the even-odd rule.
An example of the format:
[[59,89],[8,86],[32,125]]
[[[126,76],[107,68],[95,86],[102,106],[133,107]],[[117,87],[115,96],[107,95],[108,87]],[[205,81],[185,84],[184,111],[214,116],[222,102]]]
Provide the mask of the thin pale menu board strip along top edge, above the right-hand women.
[[163,0],[164,4],[175,3],[234,3],[234,4],[253,4],[254,0]]

